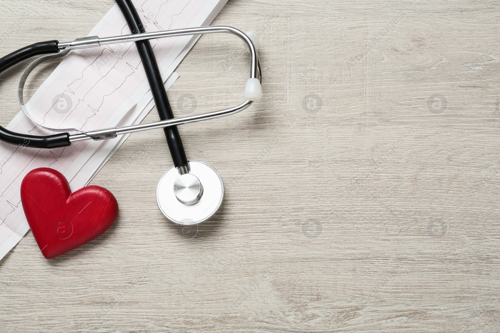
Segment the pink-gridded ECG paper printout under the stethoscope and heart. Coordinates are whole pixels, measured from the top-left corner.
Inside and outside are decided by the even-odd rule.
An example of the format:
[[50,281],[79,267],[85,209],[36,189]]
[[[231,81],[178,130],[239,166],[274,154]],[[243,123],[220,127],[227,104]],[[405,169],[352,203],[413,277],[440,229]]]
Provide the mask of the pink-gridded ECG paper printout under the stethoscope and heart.
[[[133,1],[146,31],[209,24],[227,0]],[[90,35],[129,34],[117,5]],[[150,40],[162,77],[171,75],[199,36]],[[154,105],[134,43],[106,45],[72,52],[56,67],[26,103],[35,119],[52,128],[83,131],[140,122]],[[30,113],[31,115],[31,113]],[[53,132],[37,126],[22,111],[7,129],[34,135]],[[69,147],[33,149],[0,143],[0,259],[29,230],[20,203],[20,183],[39,167],[60,171],[72,190],[85,186],[127,136],[104,141],[81,141]]]

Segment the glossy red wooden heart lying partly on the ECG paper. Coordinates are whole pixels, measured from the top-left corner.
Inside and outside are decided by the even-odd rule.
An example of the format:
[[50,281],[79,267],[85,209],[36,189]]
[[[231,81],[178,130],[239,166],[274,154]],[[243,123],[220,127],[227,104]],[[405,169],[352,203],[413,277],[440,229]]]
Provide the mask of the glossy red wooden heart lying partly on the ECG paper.
[[118,203],[100,186],[71,193],[66,178],[49,168],[31,170],[21,183],[22,209],[47,259],[96,238],[116,220]]

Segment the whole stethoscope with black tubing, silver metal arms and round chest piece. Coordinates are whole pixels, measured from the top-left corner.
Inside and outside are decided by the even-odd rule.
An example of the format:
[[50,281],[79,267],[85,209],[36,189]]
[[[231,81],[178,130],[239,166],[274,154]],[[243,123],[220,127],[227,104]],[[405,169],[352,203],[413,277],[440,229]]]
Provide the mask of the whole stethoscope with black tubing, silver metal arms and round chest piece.
[[[195,121],[228,116],[246,109],[253,101],[262,97],[261,70],[258,60],[258,34],[255,31],[246,34],[230,26],[202,26],[156,32],[144,32],[135,8],[129,0],[116,0],[130,30],[128,35],[100,38],[89,36],[70,42],[57,40],[43,41],[20,48],[0,58],[0,73],[5,69],[35,55],[44,55],[30,63],[21,75],[18,87],[18,99],[21,109],[28,115],[23,102],[24,83],[29,73],[42,61],[66,55],[70,50],[97,47],[100,45],[135,42],[151,88],[153,99],[160,117],[159,121],[85,131],[77,134],[68,132],[46,136],[28,135],[9,131],[0,126],[0,140],[14,145],[31,148],[58,148],[83,140],[104,140],[121,134],[134,133],[149,129],[163,128],[168,143],[173,166],[160,178],[156,189],[156,201],[160,211],[170,221],[180,225],[194,225],[212,217],[224,195],[224,185],[218,172],[200,161],[188,161],[176,125]],[[174,118],[168,102],[163,81],[152,52],[149,39],[197,35],[204,33],[231,33],[241,38],[250,52],[250,78],[246,81],[243,96],[246,99],[240,105],[220,111]],[[60,51],[60,52],[59,52]]]

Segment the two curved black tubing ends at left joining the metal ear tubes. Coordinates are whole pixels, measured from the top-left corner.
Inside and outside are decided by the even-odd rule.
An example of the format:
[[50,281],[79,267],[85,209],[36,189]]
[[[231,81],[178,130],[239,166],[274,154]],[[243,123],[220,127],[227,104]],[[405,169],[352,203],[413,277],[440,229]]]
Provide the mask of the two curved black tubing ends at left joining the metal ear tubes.
[[[35,55],[57,53],[57,40],[41,41],[18,49],[0,58],[0,73],[13,65]],[[21,134],[9,131],[0,126],[0,140],[20,147],[57,148],[71,145],[69,133],[59,133],[47,136]]]

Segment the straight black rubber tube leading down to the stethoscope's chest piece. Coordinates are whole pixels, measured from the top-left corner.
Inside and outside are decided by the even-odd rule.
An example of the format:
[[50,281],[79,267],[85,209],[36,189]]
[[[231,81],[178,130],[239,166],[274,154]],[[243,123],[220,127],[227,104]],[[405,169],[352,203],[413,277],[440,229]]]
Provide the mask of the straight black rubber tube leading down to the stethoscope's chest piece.
[[[135,10],[132,2],[130,0],[115,1],[123,13],[131,33],[145,32],[144,26],[142,25],[139,15],[137,14],[137,10]],[[173,119],[172,108],[170,107],[170,103],[166,97],[163,79],[159,73],[158,64],[149,40],[136,41],[135,45],[139,52],[140,59],[142,60],[144,71],[146,72],[147,81],[149,82],[149,86],[151,88],[159,118],[161,120]],[[186,153],[184,151],[184,147],[182,146],[182,140],[180,139],[177,126],[165,127],[163,128],[163,131],[165,132],[166,142],[168,144],[168,149],[170,150],[170,155],[172,156],[173,165],[176,168],[187,165]]]

